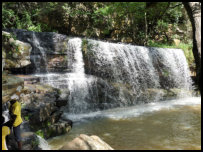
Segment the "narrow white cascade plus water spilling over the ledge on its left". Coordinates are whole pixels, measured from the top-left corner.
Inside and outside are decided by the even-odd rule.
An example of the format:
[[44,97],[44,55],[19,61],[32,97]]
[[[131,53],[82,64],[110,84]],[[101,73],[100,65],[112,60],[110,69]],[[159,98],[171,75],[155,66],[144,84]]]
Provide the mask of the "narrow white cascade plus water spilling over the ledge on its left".
[[[84,113],[88,111],[88,86],[91,85],[92,77],[85,75],[83,55],[81,51],[82,40],[80,38],[71,38],[67,43],[67,51],[73,52],[73,57],[70,58],[70,64],[72,64],[71,73],[49,73],[46,77],[41,74],[36,74],[38,77],[42,77],[41,82],[49,84],[53,87],[62,89],[62,96],[66,96],[67,91],[70,91],[68,97],[70,113]],[[69,62],[67,64],[69,64]],[[71,66],[71,65],[68,65]]]

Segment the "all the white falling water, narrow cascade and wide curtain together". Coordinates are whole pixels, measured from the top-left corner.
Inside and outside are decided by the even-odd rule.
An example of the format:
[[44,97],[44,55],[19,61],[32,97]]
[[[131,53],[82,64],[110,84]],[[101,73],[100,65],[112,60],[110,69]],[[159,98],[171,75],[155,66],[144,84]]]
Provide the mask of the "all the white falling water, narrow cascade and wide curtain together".
[[[70,38],[67,44],[67,51],[73,53],[67,63],[72,64],[71,73],[36,74],[43,78],[42,83],[62,89],[62,96],[65,97],[68,93],[66,90],[70,91],[66,109],[69,114],[87,114],[97,111],[98,107],[103,105],[105,108],[136,105],[144,102],[142,96],[147,89],[192,89],[186,58],[180,49],[147,48],[91,39],[87,41],[88,45],[91,45],[91,53],[94,54],[88,56],[90,59],[94,58],[93,62],[86,63],[90,66],[89,69],[92,68],[93,71],[90,71],[90,74],[93,73],[92,75],[85,74],[81,38]],[[36,45],[39,46],[37,42]],[[94,75],[95,71],[96,75]],[[129,100],[126,97],[122,87],[119,88],[118,94],[109,94],[112,88],[104,85],[102,88],[104,98],[101,101],[98,96],[97,78],[129,86],[133,99]],[[101,88],[99,89],[101,90]],[[108,95],[110,99],[107,99]],[[188,94],[181,94],[181,91],[180,95],[188,96]],[[140,97],[142,98],[140,99]],[[111,98],[117,103],[113,103]],[[148,96],[144,96],[144,98],[148,98]],[[157,91],[154,93],[154,99],[149,102],[157,102],[160,99],[162,99],[162,94]]]

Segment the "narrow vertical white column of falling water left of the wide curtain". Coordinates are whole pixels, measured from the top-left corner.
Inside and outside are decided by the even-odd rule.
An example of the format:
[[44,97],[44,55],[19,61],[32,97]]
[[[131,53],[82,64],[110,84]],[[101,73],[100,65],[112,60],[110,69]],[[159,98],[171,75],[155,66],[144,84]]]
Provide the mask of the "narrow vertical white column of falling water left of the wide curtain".
[[86,97],[88,95],[88,79],[85,76],[84,61],[81,51],[82,40],[80,38],[70,39],[68,42],[69,51],[74,52],[73,72],[67,74],[68,87],[70,90],[69,112],[78,113],[88,110]]

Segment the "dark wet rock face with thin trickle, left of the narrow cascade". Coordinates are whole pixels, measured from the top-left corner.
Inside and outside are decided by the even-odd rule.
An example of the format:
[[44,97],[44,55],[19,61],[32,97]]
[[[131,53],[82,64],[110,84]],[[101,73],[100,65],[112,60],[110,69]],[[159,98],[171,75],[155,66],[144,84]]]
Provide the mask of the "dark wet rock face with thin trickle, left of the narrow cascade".
[[[21,68],[15,73],[34,72],[67,72],[72,66],[72,53],[68,51],[69,38],[54,32],[33,32],[19,29],[8,29],[20,41],[32,46],[31,65]],[[68,64],[67,64],[68,63]]]

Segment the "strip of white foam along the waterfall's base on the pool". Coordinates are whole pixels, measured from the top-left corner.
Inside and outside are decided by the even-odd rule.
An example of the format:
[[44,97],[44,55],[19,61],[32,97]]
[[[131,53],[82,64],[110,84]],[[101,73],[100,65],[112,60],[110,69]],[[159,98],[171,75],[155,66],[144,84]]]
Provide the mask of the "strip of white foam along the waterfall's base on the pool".
[[182,106],[200,105],[201,97],[189,97],[175,100],[166,100],[132,107],[114,108],[109,110],[91,112],[88,114],[64,114],[63,117],[74,122],[96,118],[110,118],[114,120],[139,117],[142,114],[153,113],[160,110],[168,110]]

